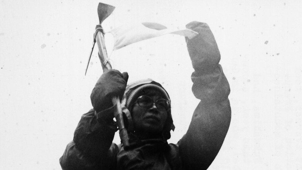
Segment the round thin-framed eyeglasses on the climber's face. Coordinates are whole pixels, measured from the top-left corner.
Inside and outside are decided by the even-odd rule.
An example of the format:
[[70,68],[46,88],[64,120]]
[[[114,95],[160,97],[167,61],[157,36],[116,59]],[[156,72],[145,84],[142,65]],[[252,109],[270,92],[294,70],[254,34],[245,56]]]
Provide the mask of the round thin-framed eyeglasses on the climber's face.
[[[149,109],[153,106],[154,101],[149,96],[140,96],[137,98],[136,103],[142,108]],[[155,101],[155,106],[159,111],[167,111],[170,109],[170,102],[161,98]]]

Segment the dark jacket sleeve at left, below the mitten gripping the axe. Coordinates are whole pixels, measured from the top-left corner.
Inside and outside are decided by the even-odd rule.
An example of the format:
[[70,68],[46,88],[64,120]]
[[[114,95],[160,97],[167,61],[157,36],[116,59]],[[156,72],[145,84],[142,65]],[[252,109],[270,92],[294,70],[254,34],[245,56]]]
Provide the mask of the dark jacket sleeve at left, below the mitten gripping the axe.
[[[105,112],[109,113],[108,110],[112,108]],[[118,147],[112,140],[117,128],[113,121],[111,123],[105,118],[99,118],[104,115],[106,113],[96,114],[92,109],[81,117],[73,141],[67,145],[60,158],[62,169],[115,168]]]

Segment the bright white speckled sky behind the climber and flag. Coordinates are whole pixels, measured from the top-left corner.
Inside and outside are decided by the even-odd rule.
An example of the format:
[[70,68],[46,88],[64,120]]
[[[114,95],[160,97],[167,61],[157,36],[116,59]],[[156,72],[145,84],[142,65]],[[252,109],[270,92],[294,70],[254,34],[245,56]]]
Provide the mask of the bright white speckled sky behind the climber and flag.
[[[58,159],[91,108],[102,72],[96,48],[84,76],[98,2],[1,0],[0,169],[60,169]],[[209,169],[302,169],[301,1],[103,2],[116,7],[103,23],[107,31],[144,21],[209,24],[232,108],[225,142]],[[149,77],[168,90],[176,125],[169,142],[176,143],[198,103],[184,38],[141,41],[111,59],[129,73],[129,82]]]

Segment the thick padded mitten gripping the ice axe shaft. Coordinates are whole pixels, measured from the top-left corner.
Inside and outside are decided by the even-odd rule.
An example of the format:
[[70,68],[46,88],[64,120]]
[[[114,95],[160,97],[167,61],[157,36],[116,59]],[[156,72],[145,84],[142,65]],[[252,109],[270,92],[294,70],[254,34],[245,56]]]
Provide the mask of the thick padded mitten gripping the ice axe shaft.
[[90,95],[93,109],[99,112],[112,107],[111,99],[113,96],[119,96],[120,100],[122,100],[127,81],[127,72],[121,73],[118,70],[108,70],[104,72]]

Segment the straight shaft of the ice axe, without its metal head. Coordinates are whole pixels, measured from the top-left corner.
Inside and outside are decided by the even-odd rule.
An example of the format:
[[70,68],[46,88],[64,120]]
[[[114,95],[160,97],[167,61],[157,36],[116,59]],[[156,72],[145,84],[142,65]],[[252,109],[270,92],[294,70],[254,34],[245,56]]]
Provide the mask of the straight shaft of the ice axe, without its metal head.
[[[108,62],[108,55],[105,47],[104,35],[101,33],[101,31],[97,32],[96,41],[99,49],[98,56],[102,64],[103,72],[105,72],[106,70],[112,69],[112,67],[111,64]],[[125,128],[124,125],[122,106],[119,97],[114,96],[112,98],[112,103],[113,105],[116,105],[116,109],[114,111],[114,117],[119,127],[119,137],[121,138],[123,146],[127,148],[129,146],[129,137],[128,137],[127,129]]]

